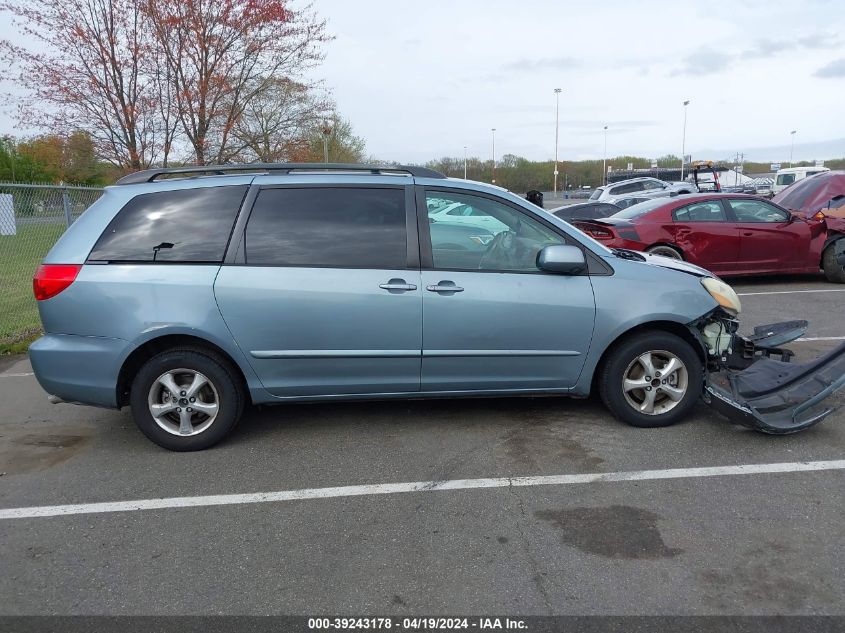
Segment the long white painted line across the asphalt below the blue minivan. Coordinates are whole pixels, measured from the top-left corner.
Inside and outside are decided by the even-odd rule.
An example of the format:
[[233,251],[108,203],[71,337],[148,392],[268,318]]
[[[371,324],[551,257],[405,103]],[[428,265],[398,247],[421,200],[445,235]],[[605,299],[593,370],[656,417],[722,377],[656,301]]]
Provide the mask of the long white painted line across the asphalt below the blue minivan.
[[406,483],[368,484],[332,488],[305,488],[276,492],[246,494],[206,495],[195,497],[170,497],[138,499],[106,503],[81,503],[60,506],[34,506],[29,508],[0,509],[2,519],[31,519],[67,516],[74,514],[102,514],[111,512],[137,512],[210,506],[243,505],[253,503],[281,503],[402,493],[426,493],[447,490],[474,490],[483,488],[510,488],[530,486],[563,486],[626,481],[651,481],[661,479],[695,479],[701,477],[727,477],[764,475],[775,473],[800,473],[845,470],[845,459],[815,462],[786,462],[775,464],[743,464],[737,466],[708,466],[701,468],[672,468],[668,470],[637,470],[610,473],[585,473],[576,475],[543,475],[536,477],[494,477],[486,479],[453,479],[446,481],[415,481]]

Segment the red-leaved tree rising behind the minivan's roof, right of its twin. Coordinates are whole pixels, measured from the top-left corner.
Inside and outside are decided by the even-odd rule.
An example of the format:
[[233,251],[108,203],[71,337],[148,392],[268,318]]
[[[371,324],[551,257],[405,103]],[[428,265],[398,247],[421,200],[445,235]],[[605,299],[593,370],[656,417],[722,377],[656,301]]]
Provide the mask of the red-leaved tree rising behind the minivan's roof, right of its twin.
[[144,0],[164,54],[182,133],[200,165],[239,147],[244,109],[271,83],[295,80],[319,63],[328,41],[311,6],[286,0]]

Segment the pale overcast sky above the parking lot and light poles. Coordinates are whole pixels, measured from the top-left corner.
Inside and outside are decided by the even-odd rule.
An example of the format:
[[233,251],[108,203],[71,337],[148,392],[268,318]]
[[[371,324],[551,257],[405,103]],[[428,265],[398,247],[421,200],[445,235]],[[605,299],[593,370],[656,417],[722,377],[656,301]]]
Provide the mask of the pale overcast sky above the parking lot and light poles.
[[[301,5],[300,5],[301,6]],[[314,0],[318,75],[385,160],[845,156],[843,0]],[[5,22],[0,37],[12,35]],[[14,132],[8,113],[0,133]],[[18,133],[20,133],[18,131]]]

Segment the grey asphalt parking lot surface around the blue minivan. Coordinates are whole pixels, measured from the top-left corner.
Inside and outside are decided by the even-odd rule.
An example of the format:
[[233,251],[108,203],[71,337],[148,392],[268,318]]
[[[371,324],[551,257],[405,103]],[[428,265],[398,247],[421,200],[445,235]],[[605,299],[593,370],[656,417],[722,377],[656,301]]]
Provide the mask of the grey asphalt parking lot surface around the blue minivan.
[[[799,359],[845,337],[843,287],[733,284],[748,330],[811,321]],[[845,411],[770,437],[703,404],[655,430],[593,399],[289,405],[177,454],[127,410],[48,404],[26,358],[0,359],[0,402],[0,517],[187,499],[0,518],[4,615],[845,613]],[[787,466],[685,470],[761,464]],[[543,479],[585,473],[615,475]],[[403,482],[429,483],[376,494]],[[305,492],[194,499],[277,491]]]

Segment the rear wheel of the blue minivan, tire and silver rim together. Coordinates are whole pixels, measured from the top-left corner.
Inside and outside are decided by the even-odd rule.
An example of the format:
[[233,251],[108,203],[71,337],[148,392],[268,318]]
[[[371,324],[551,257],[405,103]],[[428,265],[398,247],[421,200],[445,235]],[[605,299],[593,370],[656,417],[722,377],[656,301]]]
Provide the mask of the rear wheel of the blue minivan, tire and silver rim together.
[[172,451],[198,451],[235,428],[244,393],[222,358],[176,349],[144,363],[129,401],[135,424],[153,442]]

